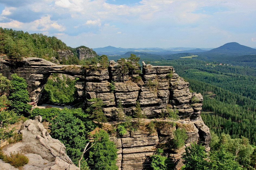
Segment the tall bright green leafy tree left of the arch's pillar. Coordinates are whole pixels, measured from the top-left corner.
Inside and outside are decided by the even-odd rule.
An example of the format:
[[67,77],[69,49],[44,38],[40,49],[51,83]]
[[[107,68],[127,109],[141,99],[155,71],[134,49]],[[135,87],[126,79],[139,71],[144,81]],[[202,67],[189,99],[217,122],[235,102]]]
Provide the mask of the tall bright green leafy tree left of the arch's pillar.
[[11,87],[10,96],[11,108],[18,114],[28,114],[31,111],[31,105],[27,104],[30,102],[27,82],[22,77],[17,76],[17,74],[11,75]]

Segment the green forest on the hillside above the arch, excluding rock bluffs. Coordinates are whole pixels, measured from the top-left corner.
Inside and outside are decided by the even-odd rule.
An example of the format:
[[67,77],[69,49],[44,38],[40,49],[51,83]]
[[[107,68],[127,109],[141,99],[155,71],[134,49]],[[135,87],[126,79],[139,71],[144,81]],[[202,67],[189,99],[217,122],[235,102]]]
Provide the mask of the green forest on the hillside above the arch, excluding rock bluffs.
[[56,50],[70,49],[56,37],[43,34],[29,34],[7,28],[0,28],[0,52],[7,54],[12,60],[21,60],[22,57],[39,57],[50,60],[59,57]]

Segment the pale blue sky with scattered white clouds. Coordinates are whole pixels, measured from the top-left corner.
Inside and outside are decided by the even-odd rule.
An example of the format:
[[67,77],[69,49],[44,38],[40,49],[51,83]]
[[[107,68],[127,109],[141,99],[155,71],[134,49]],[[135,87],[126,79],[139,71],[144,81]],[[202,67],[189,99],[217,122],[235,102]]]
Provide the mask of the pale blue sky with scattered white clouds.
[[71,47],[256,47],[255,0],[0,0],[0,13]]

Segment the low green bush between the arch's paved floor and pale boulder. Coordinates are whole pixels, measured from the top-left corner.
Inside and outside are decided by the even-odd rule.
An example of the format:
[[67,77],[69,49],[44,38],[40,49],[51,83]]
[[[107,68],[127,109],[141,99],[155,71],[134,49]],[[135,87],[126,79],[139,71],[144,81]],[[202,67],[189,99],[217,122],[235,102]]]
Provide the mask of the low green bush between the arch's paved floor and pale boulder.
[[60,113],[59,108],[34,108],[32,113],[30,114],[30,118],[35,118],[36,116],[40,115],[42,120],[50,121],[56,115]]

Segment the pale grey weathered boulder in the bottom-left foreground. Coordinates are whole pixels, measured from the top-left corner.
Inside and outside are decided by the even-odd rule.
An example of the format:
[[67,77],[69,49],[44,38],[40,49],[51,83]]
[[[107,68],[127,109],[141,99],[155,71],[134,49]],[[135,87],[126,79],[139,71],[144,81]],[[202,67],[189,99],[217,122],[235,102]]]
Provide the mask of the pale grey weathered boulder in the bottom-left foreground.
[[66,154],[66,147],[44,129],[41,119],[39,116],[25,121],[20,129],[22,142],[5,145],[2,151],[5,154],[20,152],[29,158],[28,164],[20,170],[79,170]]

